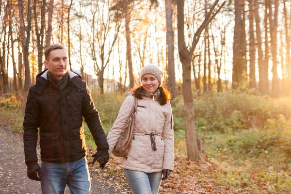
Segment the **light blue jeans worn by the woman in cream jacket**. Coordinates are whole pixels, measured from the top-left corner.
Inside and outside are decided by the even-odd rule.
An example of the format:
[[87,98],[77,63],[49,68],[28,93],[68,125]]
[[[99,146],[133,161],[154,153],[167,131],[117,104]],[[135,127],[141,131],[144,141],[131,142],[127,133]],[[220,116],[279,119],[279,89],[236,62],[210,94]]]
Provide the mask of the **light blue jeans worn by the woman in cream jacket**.
[[162,172],[144,173],[141,171],[124,169],[124,174],[133,194],[159,193]]

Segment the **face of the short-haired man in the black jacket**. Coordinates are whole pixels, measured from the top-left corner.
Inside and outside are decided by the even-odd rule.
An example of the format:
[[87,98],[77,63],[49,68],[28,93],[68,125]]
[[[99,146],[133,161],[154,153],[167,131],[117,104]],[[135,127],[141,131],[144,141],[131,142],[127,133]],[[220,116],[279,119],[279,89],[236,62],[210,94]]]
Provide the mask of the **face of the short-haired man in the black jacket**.
[[54,49],[49,53],[49,60],[45,60],[45,67],[54,75],[57,80],[61,80],[67,72],[67,53],[64,49]]

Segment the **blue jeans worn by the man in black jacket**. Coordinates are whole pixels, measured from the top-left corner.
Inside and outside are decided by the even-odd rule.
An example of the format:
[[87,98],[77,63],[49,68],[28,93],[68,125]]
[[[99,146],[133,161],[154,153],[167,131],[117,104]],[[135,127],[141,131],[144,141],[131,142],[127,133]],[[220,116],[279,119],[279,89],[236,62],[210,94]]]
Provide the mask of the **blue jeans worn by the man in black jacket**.
[[66,185],[72,194],[91,194],[86,157],[73,162],[42,162],[41,171],[43,194],[64,194]]

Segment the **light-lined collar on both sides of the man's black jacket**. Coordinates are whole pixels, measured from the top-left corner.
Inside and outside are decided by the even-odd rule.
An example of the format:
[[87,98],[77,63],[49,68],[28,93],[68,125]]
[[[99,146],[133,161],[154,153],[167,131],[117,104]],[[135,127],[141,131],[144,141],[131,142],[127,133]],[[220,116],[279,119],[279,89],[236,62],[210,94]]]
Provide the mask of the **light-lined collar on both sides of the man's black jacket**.
[[[37,86],[35,89],[35,92],[40,95],[42,91],[49,85],[48,81],[48,72],[49,69],[44,70],[43,72],[39,73],[36,76],[36,83],[35,85]],[[69,76],[69,84],[75,86],[78,90],[78,92],[81,92],[85,90],[83,84],[82,84],[82,77],[76,72],[73,72],[71,70],[67,70],[68,76]]]

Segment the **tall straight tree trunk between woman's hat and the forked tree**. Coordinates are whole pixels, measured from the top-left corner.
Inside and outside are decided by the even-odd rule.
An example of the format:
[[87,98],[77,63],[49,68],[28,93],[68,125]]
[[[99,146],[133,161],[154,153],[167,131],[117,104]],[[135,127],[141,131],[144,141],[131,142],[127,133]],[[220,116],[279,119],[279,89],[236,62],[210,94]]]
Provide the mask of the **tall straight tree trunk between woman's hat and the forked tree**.
[[172,98],[177,97],[177,85],[175,77],[175,60],[174,60],[174,32],[173,32],[173,8],[172,0],[165,0],[166,6],[166,28],[167,28],[167,56],[168,56],[168,88],[172,94]]

